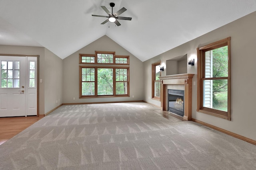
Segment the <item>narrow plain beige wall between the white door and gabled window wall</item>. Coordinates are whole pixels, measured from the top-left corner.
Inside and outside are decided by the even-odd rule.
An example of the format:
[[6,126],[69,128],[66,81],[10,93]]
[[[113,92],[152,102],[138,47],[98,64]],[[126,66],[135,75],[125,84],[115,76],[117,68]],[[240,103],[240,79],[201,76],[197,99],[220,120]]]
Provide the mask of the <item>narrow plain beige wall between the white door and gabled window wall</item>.
[[62,104],[62,59],[48,49],[45,52],[44,105],[45,113]]

